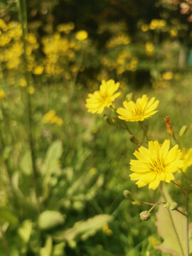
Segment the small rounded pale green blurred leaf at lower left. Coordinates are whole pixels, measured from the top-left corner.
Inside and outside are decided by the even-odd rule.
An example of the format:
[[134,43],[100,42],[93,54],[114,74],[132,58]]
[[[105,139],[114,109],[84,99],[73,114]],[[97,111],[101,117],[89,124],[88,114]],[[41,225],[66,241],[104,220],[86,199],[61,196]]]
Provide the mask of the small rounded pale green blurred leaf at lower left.
[[57,225],[63,224],[64,216],[57,210],[45,210],[38,217],[38,225],[42,230],[54,228]]

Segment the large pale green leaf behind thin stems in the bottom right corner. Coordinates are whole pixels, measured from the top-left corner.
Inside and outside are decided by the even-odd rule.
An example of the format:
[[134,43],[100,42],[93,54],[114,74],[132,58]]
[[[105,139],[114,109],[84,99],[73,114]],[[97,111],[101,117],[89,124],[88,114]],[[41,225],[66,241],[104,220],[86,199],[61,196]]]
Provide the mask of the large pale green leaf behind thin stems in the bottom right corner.
[[[171,203],[172,200],[168,192],[164,192],[166,194],[166,201]],[[173,256],[186,256],[186,240],[188,239],[186,236],[186,221],[186,216],[178,213],[178,211],[159,206],[159,210],[156,213],[156,227],[164,242],[161,245],[157,245],[156,249],[170,253]],[[189,244],[191,244],[191,238],[189,239]],[[192,247],[190,251],[191,249]]]

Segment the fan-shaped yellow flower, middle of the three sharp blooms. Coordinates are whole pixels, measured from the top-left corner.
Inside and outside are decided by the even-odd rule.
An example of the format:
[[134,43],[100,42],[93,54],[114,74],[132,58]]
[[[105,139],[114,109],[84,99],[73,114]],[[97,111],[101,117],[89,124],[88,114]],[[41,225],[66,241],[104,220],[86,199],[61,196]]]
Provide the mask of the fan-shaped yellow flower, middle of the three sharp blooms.
[[159,100],[155,101],[155,97],[152,97],[148,102],[148,97],[143,95],[142,98],[138,98],[137,102],[130,100],[129,102],[123,102],[124,108],[119,107],[117,114],[119,119],[123,119],[129,122],[144,121],[144,119],[151,117],[158,110],[155,110],[159,105]]

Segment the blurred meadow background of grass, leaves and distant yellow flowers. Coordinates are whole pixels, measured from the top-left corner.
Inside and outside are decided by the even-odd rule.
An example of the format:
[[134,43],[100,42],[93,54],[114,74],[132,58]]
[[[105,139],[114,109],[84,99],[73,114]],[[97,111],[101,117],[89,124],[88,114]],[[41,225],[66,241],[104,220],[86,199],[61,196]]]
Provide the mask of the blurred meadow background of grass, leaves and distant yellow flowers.
[[191,0],[0,1],[0,255],[168,255],[155,215],[123,196],[159,200],[129,181],[136,146],[85,99],[109,79],[117,106],[155,96],[149,137],[166,139],[170,116],[190,147],[191,29]]

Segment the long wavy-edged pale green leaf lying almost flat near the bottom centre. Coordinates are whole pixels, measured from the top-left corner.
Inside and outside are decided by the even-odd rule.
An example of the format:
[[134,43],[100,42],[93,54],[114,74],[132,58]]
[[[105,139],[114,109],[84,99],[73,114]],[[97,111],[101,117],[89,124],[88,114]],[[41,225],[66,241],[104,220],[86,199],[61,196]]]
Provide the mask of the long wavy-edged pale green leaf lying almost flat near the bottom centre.
[[112,219],[113,217],[110,215],[100,214],[85,221],[81,220],[75,223],[73,228],[57,233],[55,240],[70,242],[75,240],[77,236],[80,236],[82,240],[86,240],[90,235],[95,235],[97,230],[100,230],[105,223],[112,221]]

